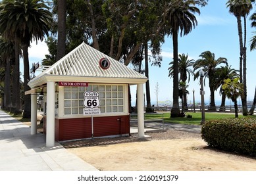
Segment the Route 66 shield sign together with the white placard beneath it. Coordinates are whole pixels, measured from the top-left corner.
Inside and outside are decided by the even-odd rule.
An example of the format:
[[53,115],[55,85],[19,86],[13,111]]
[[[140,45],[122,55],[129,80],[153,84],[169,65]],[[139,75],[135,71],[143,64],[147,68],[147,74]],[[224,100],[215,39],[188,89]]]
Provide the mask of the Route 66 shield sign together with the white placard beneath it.
[[86,114],[100,114],[101,109],[99,101],[98,91],[86,91],[84,92],[84,115]]

